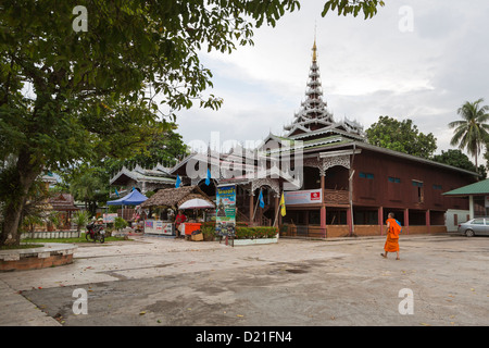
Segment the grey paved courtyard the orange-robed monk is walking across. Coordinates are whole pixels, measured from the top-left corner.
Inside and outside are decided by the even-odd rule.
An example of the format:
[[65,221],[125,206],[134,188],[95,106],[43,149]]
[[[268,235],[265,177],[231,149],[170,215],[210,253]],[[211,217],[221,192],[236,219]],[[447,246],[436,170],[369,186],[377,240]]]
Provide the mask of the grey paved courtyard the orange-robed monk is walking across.
[[400,261],[381,237],[79,245],[73,264],[0,273],[0,325],[489,325],[489,238],[400,245]]

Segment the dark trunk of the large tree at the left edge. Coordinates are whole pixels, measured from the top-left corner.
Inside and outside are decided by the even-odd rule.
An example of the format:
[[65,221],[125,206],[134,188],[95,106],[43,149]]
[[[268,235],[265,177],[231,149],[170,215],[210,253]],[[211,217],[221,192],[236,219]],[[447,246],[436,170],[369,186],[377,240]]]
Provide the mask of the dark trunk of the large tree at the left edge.
[[42,166],[36,166],[30,161],[28,151],[21,151],[15,165],[15,177],[13,178],[13,191],[17,192],[15,197],[3,207],[3,223],[0,232],[0,246],[18,246],[21,234],[18,231],[22,223],[22,211],[28,199],[28,192],[36,177],[42,172]]

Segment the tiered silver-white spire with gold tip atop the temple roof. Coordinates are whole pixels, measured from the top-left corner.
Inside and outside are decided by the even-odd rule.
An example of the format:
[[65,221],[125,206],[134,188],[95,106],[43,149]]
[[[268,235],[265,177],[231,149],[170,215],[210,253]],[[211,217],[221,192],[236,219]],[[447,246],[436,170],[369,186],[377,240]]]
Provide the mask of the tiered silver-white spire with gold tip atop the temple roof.
[[305,89],[305,100],[301,102],[301,109],[294,114],[292,123],[284,127],[285,130],[288,130],[286,136],[296,138],[319,133],[338,133],[339,128],[363,138],[363,127],[359,123],[348,119],[335,122],[333,113],[328,111],[327,102],[323,100],[315,40],[312,51],[313,58]]

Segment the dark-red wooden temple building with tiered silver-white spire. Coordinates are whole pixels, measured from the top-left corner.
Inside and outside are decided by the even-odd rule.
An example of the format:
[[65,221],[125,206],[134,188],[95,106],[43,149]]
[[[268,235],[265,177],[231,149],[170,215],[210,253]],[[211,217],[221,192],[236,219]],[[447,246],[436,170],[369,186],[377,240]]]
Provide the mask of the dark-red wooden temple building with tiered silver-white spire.
[[[193,153],[170,174],[210,197],[217,185],[235,184],[238,221],[277,225],[283,236],[381,235],[389,212],[403,233],[447,232],[447,211],[469,207],[466,198],[442,194],[477,182],[478,174],[373,146],[358,122],[336,121],[323,95],[315,41],[312,51],[305,99],[284,135],[269,134],[253,150]],[[229,163],[239,164],[233,175]],[[201,174],[189,175],[189,167]],[[212,185],[204,184],[208,169]],[[264,208],[258,207],[260,191]],[[285,216],[278,214],[281,194]]]

